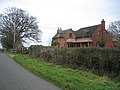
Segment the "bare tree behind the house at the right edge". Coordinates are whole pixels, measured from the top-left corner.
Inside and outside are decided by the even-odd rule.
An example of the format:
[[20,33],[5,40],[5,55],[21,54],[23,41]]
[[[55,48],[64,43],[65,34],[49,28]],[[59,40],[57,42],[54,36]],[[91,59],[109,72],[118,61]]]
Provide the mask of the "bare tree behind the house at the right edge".
[[120,46],[120,21],[114,21],[109,24],[108,30]]

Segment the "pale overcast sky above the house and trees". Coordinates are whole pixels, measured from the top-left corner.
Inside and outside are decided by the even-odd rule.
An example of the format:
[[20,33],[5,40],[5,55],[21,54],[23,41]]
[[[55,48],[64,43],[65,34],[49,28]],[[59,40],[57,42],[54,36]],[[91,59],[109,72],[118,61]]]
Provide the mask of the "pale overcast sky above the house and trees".
[[0,0],[0,13],[7,7],[17,7],[37,17],[43,32],[42,45],[63,30],[97,25],[106,21],[120,20],[120,0]]

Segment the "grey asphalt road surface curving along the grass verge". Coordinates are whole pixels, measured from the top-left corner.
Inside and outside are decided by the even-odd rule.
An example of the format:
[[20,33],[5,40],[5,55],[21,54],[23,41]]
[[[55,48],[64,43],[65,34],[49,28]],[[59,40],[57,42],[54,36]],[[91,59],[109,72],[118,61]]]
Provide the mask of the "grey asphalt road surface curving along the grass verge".
[[35,76],[7,55],[0,54],[0,90],[60,90]]

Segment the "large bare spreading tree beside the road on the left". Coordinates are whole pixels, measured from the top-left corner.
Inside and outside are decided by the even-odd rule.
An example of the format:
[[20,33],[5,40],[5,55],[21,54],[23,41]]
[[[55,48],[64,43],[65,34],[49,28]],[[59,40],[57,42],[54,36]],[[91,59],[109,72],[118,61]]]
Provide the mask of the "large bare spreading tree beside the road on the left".
[[40,42],[41,30],[36,17],[30,16],[28,12],[20,8],[9,7],[0,14],[0,36],[3,41],[11,37],[14,47],[25,42],[25,38]]

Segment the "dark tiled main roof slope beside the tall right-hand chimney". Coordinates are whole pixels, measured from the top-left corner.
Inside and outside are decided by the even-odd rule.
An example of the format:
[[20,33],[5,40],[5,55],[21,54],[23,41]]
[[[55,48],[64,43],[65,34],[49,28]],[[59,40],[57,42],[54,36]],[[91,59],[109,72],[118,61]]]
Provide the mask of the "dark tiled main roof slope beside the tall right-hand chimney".
[[94,25],[94,26],[89,26],[89,27],[80,28],[80,29],[76,32],[76,37],[81,37],[84,32],[86,32],[88,36],[92,36],[92,34],[97,30],[97,28],[98,28],[99,26],[100,26],[100,25]]

